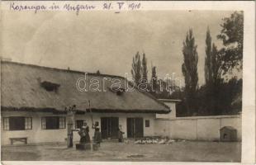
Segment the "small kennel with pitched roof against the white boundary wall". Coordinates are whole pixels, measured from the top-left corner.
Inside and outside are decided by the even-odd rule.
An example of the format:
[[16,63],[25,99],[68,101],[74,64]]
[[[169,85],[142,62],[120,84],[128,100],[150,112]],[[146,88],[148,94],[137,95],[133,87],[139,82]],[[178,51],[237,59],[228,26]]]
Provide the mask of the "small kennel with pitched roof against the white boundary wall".
[[237,130],[231,126],[224,126],[220,129],[220,141],[232,142],[237,141]]

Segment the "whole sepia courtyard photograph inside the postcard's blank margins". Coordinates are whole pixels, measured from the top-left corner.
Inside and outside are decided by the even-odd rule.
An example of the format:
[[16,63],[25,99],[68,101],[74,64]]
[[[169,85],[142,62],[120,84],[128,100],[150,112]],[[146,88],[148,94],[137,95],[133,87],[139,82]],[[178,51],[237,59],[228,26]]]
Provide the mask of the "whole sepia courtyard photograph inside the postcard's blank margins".
[[244,11],[1,23],[2,161],[241,162]]

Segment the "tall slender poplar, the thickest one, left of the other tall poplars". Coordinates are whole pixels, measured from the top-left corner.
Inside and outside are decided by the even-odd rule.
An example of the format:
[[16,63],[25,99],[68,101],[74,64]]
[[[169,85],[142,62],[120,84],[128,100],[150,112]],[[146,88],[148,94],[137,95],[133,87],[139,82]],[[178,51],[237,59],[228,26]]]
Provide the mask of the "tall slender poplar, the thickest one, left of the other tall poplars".
[[196,111],[194,105],[195,95],[197,92],[197,45],[195,45],[195,38],[190,29],[187,33],[186,40],[183,42],[183,65],[182,71],[185,78],[185,101],[187,104],[187,115],[192,114],[192,111]]

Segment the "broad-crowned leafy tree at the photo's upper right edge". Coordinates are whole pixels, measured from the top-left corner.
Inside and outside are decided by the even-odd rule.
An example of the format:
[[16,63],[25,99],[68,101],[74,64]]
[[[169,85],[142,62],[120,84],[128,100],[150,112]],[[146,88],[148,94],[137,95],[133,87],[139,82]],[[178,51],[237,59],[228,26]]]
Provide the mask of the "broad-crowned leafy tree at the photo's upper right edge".
[[244,12],[234,12],[225,17],[220,25],[222,30],[217,38],[222,40],[225,48],[220,50],[223,73],[232,68],[243,68]]

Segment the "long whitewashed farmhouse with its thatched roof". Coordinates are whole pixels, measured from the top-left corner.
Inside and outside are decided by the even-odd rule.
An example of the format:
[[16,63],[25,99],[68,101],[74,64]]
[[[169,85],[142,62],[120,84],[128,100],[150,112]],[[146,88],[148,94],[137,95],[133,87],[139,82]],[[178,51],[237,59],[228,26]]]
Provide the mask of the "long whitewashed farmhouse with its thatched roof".
[[1,74],[2,145],[64,142],[70,123],[78,130],[84,120],[91,139],[96,121],[103,139],[116,139],[118,128],[125,138],[154,136],[156,114],[170,112],[118,76],[8,61]]

